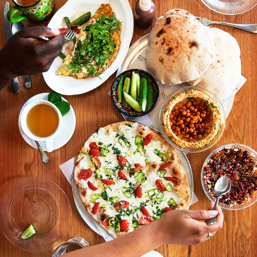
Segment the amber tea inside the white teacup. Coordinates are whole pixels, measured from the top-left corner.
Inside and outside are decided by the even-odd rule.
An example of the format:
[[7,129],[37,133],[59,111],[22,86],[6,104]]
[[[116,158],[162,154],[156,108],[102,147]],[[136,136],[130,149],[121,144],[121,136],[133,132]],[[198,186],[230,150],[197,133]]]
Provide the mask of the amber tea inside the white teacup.
[[57,129],[59,118],[52,106],[38,104],[30,109],[26,122],[32,134],[38,137],[48,137]]

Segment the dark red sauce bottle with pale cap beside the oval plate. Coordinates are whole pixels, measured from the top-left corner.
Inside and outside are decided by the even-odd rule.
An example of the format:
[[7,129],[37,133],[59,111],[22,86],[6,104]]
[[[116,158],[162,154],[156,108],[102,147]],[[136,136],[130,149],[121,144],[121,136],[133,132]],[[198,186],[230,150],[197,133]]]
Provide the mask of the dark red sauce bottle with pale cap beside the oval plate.
[[135,4],[135,24],[139,28],[149,28],[152,25],[155,6],[151,0],[139,0]]

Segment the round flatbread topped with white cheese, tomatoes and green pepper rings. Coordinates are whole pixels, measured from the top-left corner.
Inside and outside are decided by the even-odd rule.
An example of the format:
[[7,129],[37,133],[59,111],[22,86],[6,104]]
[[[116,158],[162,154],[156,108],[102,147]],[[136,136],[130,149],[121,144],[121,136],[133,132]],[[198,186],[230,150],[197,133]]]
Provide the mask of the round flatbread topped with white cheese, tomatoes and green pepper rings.
[[114,237],[189,208],[189,183],[175,150],[137,122],[112,123],[91,135],[74,180],[85,209]]

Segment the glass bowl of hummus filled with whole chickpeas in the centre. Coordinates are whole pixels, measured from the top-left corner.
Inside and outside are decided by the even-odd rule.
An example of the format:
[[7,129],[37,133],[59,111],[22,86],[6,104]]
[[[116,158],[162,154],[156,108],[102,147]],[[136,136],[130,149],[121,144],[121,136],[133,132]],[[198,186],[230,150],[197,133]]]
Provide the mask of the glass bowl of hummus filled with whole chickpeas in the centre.
[[217,143],[225,129],[225,111],[209,90],[186,86],[164,101],[159,123],[162,135],[183,152],[203,152]]

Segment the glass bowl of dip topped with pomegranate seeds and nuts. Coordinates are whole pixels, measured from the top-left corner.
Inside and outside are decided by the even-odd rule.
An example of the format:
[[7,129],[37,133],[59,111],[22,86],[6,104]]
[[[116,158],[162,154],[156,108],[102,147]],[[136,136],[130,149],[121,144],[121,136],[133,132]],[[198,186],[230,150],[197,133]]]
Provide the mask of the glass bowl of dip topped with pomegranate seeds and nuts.
[[227,144],[215,149],[206,158],[201,171],[205,195],[215,201],[216,181],[228,176],[231,189],[219,199],[219,206],[227,210],[241,210],[257,201],[257,152],[242,144]]

